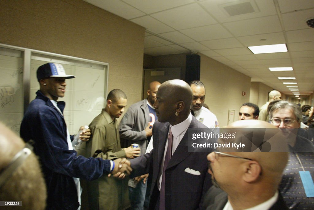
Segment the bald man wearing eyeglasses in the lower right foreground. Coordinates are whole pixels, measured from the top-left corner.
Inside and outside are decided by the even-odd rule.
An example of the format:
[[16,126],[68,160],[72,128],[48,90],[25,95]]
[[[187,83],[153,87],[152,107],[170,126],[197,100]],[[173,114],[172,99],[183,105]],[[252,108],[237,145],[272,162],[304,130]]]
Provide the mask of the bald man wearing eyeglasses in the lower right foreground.
[[[254,127],[268,128],[268,130],[275,128],[268,122],[257,120],[236,121],[228,126],[228,128],[241,129]],[[254,132],[259,132],[258,130],[251,129],[253,135],[246,137],[254,141]],[[283,137],[276,130],[269,132],[278,134],[279,138]],[[267,140],[264,135],[260,138]],[[282,172],[288,161],[288,153],[224,151],[209,153],[207,159],[210,161],[208,173],[212,175],[214,186],[204,197],[202,209],[288,209],[278,191]]]

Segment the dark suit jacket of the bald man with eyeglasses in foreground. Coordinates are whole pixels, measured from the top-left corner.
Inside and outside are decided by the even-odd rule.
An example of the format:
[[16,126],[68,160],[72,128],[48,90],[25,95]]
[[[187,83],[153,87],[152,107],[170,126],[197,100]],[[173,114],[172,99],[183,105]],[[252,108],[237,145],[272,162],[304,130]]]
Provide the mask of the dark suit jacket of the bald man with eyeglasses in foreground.
[[[212,186],[204,197],[202,210],[222,210],[228,202],[228,195],[225,191]],[[288,210],[279,192],[278,200],[268,210]],[[266,210],[266,209],[265,209]]]

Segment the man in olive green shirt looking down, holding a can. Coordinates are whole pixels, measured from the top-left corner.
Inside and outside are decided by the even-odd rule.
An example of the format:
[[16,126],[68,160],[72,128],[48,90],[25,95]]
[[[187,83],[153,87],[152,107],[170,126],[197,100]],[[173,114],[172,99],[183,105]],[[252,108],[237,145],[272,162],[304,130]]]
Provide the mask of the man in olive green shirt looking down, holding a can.
[[[121,149],[116,118],[119,118],[127,105],[127,96],[120,89],[112,90],[107,97],[106,108],[90,123],[91,138],[86,143],[86,156],[113,160],[134,158],[139,148]],[[102,176],[87,182],[89,209],[124,210],[130,206],[128,179],[119,180]]]

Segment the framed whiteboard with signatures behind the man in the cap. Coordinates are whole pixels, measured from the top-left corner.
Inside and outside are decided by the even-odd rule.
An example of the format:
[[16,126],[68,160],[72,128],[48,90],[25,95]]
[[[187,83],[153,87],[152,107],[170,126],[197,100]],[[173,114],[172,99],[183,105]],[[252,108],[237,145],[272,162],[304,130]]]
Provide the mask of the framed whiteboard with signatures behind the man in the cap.
[[16,48],[0,44],[0,121],[11,130],[19,135],[25,101],[35,99],[39,89],[37,68],[47,62],[61,63],[67,74],[76,76],[66,80],[65,97],[58,99],[66,102],[64,118],[70,134],[76,134],[80,126],[89,125],[100,114],[106,102],[108,63]]

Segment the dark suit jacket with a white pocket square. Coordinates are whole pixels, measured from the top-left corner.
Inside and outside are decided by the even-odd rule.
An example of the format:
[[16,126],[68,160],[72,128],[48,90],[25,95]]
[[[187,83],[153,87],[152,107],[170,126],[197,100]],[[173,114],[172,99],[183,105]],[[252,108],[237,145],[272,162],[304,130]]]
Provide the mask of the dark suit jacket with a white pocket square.
[[[192,117],[189,128],[196,130],[193,130],[193,132],[204,132],[204,129],[208,129],[196,120],[195,117]],[[150,153],[131,160],[131,167],[133,168],[131,177],[148,172],[152,176],[149,209],[158,209],[159,207],[160,191],[158,190],[157,183],[159,182],[159,172],[162,170],[160,165],[165,152],[168,131],[169,123],[155,121],[153,126],[154,149]],[[167,210],[198,209],[202,194],[211,186],[210,175],[207,173],[208,161],[206,156],[208,152],[187,152],[187,146],[190,143],[188,143],[187,131],[165,170],[165,209]],[[185,172],[184,170],[187,168],[199,171],[200,175],[192,175]]]

